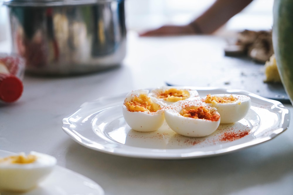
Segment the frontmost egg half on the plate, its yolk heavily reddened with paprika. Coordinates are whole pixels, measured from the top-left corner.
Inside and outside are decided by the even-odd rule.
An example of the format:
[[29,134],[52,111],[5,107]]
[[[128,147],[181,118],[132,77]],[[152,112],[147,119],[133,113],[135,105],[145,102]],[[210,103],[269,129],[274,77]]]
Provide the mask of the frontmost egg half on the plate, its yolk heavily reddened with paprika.
[[178,134],[204,137],[212,134],[220,124],[220,115],[200,101],[178,101],[165,110],[165,120]]

